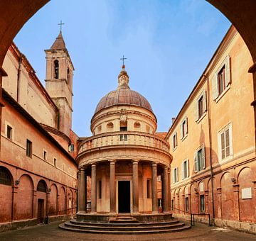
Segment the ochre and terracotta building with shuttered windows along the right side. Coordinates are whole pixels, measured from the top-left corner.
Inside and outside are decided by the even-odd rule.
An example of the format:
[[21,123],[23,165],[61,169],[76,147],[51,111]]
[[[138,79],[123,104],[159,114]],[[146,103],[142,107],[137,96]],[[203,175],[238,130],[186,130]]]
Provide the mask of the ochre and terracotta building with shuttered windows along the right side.
[[256,232],[252,58],[233,26],[166,135],[175,216]]

